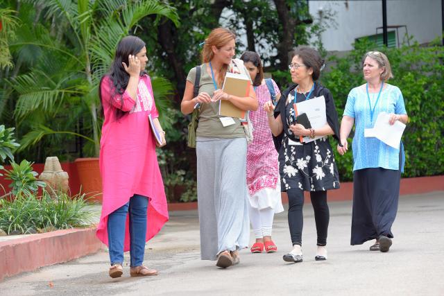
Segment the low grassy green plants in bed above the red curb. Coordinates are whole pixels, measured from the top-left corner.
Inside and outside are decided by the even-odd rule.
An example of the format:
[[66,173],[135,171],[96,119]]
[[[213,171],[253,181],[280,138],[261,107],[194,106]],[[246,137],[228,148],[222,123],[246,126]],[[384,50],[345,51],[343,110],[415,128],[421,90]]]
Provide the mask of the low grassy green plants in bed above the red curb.
[[95,211],[88,208],[85,195],[69,197],[58,193],[51,199],[43,190],[42,196],[20,193],[14,200],[0,199],[0,229],[31,234],[56,229],[87,227],[94,223]]

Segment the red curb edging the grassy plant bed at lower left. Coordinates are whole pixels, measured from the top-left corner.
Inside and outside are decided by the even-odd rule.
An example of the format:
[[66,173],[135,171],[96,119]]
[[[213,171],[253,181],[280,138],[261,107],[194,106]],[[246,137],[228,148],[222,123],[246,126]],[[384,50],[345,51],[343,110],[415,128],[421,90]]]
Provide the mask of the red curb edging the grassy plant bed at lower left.
[[21,272],[95,253],[101,247],[95,227],[58,230],[0,242],[0,281]]

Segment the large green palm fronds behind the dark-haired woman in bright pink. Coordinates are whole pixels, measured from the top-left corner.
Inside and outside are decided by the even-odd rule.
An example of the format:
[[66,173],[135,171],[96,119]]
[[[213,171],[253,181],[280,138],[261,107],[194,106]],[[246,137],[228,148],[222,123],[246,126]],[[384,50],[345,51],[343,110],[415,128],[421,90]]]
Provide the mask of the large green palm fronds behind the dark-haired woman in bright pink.
[[[10,6],[17,6],[13,2]],[[76,136],[87,139],[81,148],[85,155],[99,155],[98,85],[117,43],[145,17],[150,26],[157,26],[160,16],[177,26],[176,9],[161,0],[24,0],[17,7],[20,29],[8,46],[23,71],[5,79],[0,98],[14,100],[14,119],[25,134],[22,150],[38,146],[40,159],[46,146],[45,153],[68,154],[67,139]],[[160,100],[173,87],[162,78],[153,86],[162,114],[167,106]]]

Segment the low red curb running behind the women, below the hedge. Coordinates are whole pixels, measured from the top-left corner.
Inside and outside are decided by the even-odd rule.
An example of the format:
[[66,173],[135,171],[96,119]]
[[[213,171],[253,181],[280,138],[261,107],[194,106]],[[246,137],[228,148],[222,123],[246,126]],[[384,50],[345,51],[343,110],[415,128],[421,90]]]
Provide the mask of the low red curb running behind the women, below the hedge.
[[[432,177],[402,178],[400,195],[421,194],[433,191],[444,191],[444,175]],[[305,192],[305,202],[309,202],[309,192]],[[353,200],[353,182],[341,182],[341,188],[327,193],[329,202]],[[282,193],[282,203],[289,202],[287,193]],[[197,209],[197,202],[176,202],[168,204],[169,211],[188,211]]]

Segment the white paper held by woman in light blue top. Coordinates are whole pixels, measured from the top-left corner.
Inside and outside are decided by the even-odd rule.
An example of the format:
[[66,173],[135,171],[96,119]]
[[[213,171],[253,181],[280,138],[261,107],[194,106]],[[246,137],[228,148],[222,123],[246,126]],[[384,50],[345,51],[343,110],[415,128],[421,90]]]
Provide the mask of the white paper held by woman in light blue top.
[[402,133],[405,130],[405,124],[400,121],[395,121],[393,125],[388,123],[390,121],[390,114],[386,112],[381,112],[378,114],[375,127],[370,130],[370,133],[365,132],[364,137],[375,137],[380,141],[383,141],[388,146],[391,146],[395,149],[400,148]]

